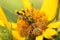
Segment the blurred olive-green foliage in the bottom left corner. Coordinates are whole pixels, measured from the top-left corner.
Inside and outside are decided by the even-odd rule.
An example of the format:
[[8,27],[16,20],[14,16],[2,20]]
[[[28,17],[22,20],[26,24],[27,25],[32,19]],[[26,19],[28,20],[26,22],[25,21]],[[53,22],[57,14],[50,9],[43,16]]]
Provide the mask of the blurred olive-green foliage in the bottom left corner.
[[10,40],[9,30],[6,26],[0,26],[0,38],[2,40]]

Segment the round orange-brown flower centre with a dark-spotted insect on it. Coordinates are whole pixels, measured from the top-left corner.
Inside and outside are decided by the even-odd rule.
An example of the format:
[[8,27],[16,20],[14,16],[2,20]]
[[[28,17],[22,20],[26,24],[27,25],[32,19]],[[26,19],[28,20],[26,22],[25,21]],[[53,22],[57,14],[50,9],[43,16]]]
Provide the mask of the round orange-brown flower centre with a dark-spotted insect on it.
[[17,29],[21,36],[39,36],[47,28],[47,18],[39,10],[22,10],[17,14]]

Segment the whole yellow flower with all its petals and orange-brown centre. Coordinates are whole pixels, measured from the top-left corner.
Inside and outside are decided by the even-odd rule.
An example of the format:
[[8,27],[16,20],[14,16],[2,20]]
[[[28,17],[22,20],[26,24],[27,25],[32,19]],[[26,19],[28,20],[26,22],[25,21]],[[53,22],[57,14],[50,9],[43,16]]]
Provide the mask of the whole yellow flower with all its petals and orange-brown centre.
[[[36,36],[36,40],[43,40],[43,37],[50,39],[57,34],[52,28],[58,28],[60,21],[50,24],[48,22],[56,16],[58,0],[44,0],[40,10],[33,8],[29,0],[22,1],[25,10],[17,12],[19,15],[17,24],[12,23],[12,28],[15,29],[12,30],[14,38],[17,40],[25,40],[25,36],[29,35],[31,37]],[[6,24],[8,29],[10,28],[11,24],[7,21],[1,7],[0,20]],[[3,24],[2,21],[0,21],[0,25]]]

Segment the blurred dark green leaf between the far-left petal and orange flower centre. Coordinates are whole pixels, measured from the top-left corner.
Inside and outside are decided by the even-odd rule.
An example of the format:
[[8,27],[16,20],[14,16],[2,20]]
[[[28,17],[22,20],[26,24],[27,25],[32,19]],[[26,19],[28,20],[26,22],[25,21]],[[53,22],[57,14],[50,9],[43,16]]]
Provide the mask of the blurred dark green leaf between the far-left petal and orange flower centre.
[[16,22],[17,21],[17,18],[18,16],[16,14],[14,14],[14,12],[10,12],[8,9],[2,7],[4,12],[5,12],[5,15],[8,19],[8,21],[10,22]]

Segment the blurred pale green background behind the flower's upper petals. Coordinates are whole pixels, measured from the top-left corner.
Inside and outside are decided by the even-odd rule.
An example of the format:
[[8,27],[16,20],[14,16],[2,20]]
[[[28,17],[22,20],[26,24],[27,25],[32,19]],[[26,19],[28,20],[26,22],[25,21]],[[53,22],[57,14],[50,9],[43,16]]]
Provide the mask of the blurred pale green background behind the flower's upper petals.
[[[38,1],[30,0],[30,2],[37,9],[40,9],[41,5],[43,3],[42,0],[38,0]],[[17,20],[17,14],[15,13],[15,10],[20,10],[21,8],[24,9],[22,0],[0,0],[0,6],[2,6],[2,8],[7,16],[7,19],[11,22],[16,22],[16,20]]]

